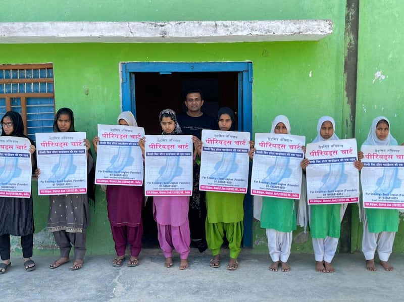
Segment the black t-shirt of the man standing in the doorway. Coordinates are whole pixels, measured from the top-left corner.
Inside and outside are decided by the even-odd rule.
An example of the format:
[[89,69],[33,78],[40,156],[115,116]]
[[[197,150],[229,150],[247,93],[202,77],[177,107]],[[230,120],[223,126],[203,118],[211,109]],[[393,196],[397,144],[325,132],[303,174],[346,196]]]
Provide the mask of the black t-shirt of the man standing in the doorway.
[[183,134],[195,135],[200,139],[202,129],[215,129],[216,121],[214,118],[207,114],[203,114],[199,117],[191,117],[186,113],[179,114],[177,116],[178,124],[181,126]]

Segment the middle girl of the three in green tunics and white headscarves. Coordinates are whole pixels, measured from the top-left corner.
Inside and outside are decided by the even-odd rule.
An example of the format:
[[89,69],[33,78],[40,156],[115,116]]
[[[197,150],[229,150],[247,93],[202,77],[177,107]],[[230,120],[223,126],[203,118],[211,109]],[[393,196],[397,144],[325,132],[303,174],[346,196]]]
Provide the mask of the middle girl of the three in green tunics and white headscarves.
[[[317,137],[313,142],[337,139],[339,138],[335,134],[334,119],[329,116],[320,118],[317,124]],[[309,164],[309,160],[304,159],[301,161],[300,166],[306,170]],[[354,165],[359,170],[363,167],[360,161],[355,161]],[[331,261],[337,250],[338,239],[341,233],[341,221],[346,207],[347,204],[310,206],[309,222],[317,272],[335,272]]]

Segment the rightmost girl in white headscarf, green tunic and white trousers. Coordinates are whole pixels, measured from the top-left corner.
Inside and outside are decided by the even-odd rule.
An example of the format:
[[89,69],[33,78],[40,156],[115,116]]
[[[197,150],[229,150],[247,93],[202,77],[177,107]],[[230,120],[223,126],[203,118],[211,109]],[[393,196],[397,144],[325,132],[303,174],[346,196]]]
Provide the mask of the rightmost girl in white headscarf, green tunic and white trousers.
[[[386,146],[397,145],[397,141],[390,134],[390,122],[380,116],[373,120],[368,138],[364,145]],[[361,152],[362,153],[362,152]],[[363,153],[360,154],[363,158]],[[390,170],[394,172],[393,170]],[[389,184],[394,184],[396,175],[385,173],[383,175]],[[363,196],[364,202],[366,196]],[[362,251],[366,259],[366,268],[376,271],[375,251],[379,255],[379,263],[386,271],[393,267],[388,263],[394,243],[395,232],[398,231],[398,210],[394,209],[365,209],[363,212],[363,239]]]

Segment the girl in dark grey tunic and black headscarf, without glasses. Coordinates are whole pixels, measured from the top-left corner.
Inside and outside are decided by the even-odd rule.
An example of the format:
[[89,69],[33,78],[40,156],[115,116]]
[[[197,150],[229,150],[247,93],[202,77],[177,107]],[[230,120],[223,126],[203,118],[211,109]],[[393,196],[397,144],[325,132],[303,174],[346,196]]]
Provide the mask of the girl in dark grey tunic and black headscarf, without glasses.
[[[54,132],[75,132],[73,111],[61,108],[54,121]],[[87,171],[91,175],[94,169],[94,160],[90,152],[90,142],[85,139],[87,148]],[[40,170],[36,170],[39,176]],[[91,178],[90,176],[88,178]],[[92,180],[94,184],[94,180]],[[69,262],[70,249],[73,245],[75,261],[70,267],[72,271],[81,269],[86,251],[86,230],[90,224],[88,197],[93,196],[93,185],[87,188],[87,194],[78,195],[51,195],[49,196],[48,230],[54,233],[56,243],[60,248],[60,259],[49,265],[56,269]]]

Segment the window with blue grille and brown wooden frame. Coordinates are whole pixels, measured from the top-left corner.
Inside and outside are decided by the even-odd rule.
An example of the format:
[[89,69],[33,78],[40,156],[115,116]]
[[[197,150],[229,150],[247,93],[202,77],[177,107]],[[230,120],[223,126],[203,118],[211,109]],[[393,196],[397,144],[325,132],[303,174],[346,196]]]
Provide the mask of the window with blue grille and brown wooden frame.
[[0,65],[0,118],[20,113],[32,140],[37,132],[53,132],[54,87],[53,64]]

